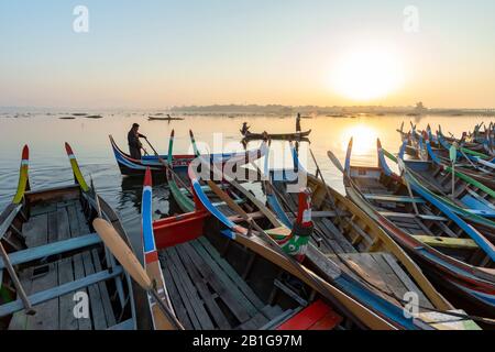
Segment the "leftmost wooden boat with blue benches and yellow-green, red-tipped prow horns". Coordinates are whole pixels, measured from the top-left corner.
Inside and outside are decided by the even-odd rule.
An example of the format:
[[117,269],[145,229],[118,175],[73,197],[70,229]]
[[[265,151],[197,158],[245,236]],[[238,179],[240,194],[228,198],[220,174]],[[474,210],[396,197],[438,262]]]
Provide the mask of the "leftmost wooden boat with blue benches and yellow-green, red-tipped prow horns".
[[142,290],[106,251],[92,219],[107,219],[129,239],[117,213],[84,179],[68,144],[66,151],[75,184],[31,190],[24,146],[16,194],[0,216],[8,253],[0,260],[0,328],[143,328],[136,315]]

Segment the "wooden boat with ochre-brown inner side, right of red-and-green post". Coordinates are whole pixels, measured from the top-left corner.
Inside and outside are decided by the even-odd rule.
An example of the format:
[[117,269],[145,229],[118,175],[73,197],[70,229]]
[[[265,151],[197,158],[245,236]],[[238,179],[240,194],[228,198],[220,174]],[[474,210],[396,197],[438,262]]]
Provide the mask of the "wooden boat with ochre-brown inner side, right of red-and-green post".
[[[315,224],[311,251],[304,263],[309,267],[318,267],[321,265],[318,262],[326,257],[331,265],[338,265],[342,271],[340,277],[332,279],[326,277],[324,273],[320,275],[399,327],[405,327],[403,314],[406,293],[415,293],[419,297],[419,314],[424,319],[433,309],[446,311],[447,317],[452,306],[433,288],[400,246],[351,200],[318,177],[307,174],[294,148],[293,155],[295,169],[305,173],[311,194],[311,218]],[[271,180],[265,182],[264,189],[270,208],[290,228],[301,200],[298,194],[289,193],[295,182],[289,182],[285,172],[270,172],[265,164],[265,174],[270,175]],[[464,329],[469,324],[460,319],[458,327]]]

